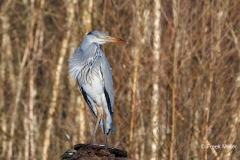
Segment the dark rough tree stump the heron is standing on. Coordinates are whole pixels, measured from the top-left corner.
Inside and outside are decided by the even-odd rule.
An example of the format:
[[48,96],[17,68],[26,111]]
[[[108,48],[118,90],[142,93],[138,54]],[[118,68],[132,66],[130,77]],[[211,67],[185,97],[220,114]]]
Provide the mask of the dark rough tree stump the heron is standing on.
[[62,160],[130,160],[127,152],[104,145],[76,144],[74,150],[66,151]]

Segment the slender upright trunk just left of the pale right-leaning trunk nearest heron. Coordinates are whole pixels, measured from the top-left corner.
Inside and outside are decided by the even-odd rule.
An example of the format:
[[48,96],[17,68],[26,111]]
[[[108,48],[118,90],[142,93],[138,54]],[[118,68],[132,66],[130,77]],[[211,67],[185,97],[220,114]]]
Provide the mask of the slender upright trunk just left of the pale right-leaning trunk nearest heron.
[[[29,134],[29,148],[27,148],[28,145],[25,146],[26,152],[27,150],[30,151],[30,159],[35,160],[36,159],[36,147],[35,147],[35,140],[34,140],[34,135],[35,135],[35,124],[36,118],[34,115],[34,106],[35,106],[35,97],[37,95],[37,90],[35,87],[35,78],[37,76],[37,61],[40,60],[42,52],[43,52],[43,14],[42,11],[44,10],[44,0],[40,1],[40,10],[34,10],[34,0],[32,0],[32,10],[34,14],[34,18],[37,19],[37,27],[34,35],[34,43],[33,43],[33,48],[32,48],[32,53],[31,53],[31,64],[30,64],[30,73],[29,73],[29,108],[28,108],[28,132]],[[27,135],[26,134],[26,135]],[[25,157],[25,159],[28,159]]]

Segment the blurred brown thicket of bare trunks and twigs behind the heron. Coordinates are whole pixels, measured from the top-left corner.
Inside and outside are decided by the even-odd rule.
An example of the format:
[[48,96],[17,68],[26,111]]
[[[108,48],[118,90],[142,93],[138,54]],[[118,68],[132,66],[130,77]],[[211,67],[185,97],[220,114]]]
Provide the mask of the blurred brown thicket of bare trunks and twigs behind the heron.
[[59,159],[89,142],[96,118],[68,59],[96,29],[130,43],[103,46],[115,89],[109,146],[142,160],[240,158],[239,0],[0,4],[0,159]]

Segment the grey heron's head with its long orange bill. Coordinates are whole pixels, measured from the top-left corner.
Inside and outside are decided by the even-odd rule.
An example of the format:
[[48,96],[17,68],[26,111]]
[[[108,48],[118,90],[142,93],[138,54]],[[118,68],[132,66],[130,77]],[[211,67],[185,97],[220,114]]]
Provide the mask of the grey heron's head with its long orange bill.
[[107,43],[107,42],[121,42],[121,43],[126,43],[128,44],[128,41],[125,41],[120,38],[115,38],[106,35],[102,31],[94,30],[89,32],[85,38],[84,38],[85,43],[98,43],[100,45]]

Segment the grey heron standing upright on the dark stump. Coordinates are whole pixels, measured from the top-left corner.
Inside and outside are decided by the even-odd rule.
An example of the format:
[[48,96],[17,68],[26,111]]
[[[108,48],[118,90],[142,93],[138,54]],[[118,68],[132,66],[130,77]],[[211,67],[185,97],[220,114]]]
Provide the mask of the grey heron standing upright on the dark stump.
[[127,41],[107,36],[105,33],[94,30],[83,39],[82,44],[74,51],[69,60],[70,75],[76,78],[79,89],[93,114],[97,117],[90,145],[100,124],[104,133],[105,147],[107,147],[107,135],[114,131],[114,89],[112,72],[108,60],[101,49],[106,42]]

